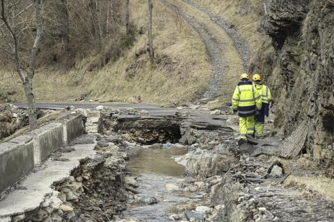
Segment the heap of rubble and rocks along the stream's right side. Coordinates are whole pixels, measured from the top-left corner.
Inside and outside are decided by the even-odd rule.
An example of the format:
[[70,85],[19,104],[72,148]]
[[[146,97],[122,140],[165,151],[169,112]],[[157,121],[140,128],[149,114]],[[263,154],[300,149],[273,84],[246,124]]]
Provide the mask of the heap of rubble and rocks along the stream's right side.
[[238,145],[237,135],[226,130],[183,132],[189,153],[175,160],[185,165],[195,185],[205,187],[211,211],[218,207],[211,217],[196,221],[333,221],[333,203],[312,190],[283,185],[289,174],[269,157],[286,151],[277,139]]

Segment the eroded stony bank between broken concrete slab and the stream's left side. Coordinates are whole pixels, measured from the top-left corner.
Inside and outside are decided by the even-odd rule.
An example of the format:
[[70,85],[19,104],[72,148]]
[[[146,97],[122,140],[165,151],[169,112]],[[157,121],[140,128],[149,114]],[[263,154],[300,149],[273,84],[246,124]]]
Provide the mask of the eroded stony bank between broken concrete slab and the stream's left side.
[[65,182],[54,186],[63,203],[73,209],[65,216],[70,221],[109,221],[124,210],[125,153],[118,146],[105,147],[102,137],[97,137],[94,149],[95,157],[81,160]]

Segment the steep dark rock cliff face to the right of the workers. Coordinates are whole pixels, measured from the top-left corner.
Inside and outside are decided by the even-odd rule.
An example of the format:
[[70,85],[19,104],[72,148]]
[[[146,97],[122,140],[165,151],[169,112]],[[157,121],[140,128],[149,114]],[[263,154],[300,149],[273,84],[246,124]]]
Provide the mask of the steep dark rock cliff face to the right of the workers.
[[[273,90],[278,134],[315,160],[334,156],[334,1],[268,0],[260,31],[271,37],[250,64]],[[265,52],[265,53],[263,53]],[[303,135],[306,137],[303,137]]]

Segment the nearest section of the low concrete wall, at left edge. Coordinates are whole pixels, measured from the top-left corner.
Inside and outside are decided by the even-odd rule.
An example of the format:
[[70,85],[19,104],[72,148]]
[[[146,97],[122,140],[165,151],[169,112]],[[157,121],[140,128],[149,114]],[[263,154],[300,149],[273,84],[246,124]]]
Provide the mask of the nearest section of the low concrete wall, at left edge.
[[33,169],[33,140],[20,136],[0,144],[0,193]]

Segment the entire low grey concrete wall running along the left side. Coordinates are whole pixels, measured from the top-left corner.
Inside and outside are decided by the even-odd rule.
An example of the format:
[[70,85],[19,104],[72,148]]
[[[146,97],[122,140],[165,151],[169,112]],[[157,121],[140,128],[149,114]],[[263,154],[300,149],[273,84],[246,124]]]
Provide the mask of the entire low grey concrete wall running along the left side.
[[49,123],[28,135],[0,144],[0,194],[40,164],[51,152],[67,146],[84,133],[81,116]]

